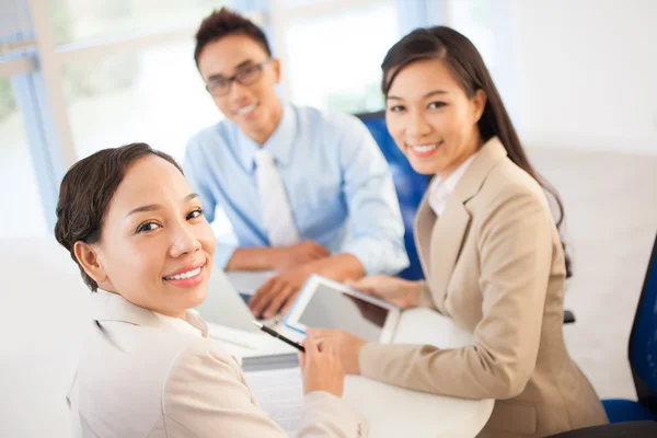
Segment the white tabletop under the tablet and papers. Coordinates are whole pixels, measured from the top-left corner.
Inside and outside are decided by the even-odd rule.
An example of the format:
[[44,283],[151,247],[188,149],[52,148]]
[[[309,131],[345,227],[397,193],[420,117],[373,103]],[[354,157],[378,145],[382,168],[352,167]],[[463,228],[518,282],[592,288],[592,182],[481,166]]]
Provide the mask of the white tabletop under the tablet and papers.
[[[243,276],[240,279],[243,281]],[[303,337],[281,324],[275,328],[295,341]],[[224,331],[226,327],[210,324],[211,335],[227,338],[229,336],[226,336]],[[252,348],[227,342],[223,342],[223,346],[235,357],[296,351],[265,334],[249,336],[247,342]],[[437,312],[411,309],[404,312],[393,343],[431,344],[449,348],[470,345],[473,337]],[[361,376],[347,376],[344,399],[369,419],[370,436],[373,438],[474,437],[488,420],[494,405],[493,400],[464,400],[420,393]]]

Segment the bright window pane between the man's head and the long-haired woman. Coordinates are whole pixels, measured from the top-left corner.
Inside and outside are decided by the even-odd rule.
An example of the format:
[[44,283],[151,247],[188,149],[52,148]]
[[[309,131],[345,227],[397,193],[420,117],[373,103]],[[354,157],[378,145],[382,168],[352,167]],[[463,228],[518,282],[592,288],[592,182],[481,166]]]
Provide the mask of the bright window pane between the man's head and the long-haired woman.
[[346,113],[382,110],[380,66],[397,39],[396,1],[290,20],[284,70],[291,101]]

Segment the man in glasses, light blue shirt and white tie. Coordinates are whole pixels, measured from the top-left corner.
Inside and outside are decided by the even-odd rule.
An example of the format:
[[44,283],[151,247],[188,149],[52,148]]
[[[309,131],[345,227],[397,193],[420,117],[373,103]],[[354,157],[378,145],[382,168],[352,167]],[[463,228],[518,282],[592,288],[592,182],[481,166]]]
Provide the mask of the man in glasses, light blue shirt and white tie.
[[216,263],[278,272],[250,300],[255,315],[287,312],[311,274],[342,281],[407,266],[392,176],[360,120],[281,102],[265,34],[227,9],[204,20],[194,56],[226,119],[189,140],[185,173],[207,220],[221,206],[237,234]]

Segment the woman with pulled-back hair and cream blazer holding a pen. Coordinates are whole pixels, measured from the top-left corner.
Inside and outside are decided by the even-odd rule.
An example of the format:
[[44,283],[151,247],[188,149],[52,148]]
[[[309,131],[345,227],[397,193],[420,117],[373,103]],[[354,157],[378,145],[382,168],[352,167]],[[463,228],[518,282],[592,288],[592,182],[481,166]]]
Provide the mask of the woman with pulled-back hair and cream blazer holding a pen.
[[[283,437],[244,374],[192,308],[216,241],[175,161],[148,145],[105,149],[61,182],[55,235],[91,293],[68,401],[77,437]],[[365,437],[342,401],[332,347],[306,342],[299,437]]]

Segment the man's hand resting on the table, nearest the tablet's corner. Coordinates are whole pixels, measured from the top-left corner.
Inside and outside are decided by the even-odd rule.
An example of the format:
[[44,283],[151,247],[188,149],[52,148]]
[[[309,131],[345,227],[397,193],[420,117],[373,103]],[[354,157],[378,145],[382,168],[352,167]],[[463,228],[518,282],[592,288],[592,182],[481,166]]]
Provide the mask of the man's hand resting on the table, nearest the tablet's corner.
[[306,264],[269,278],[249,301],[251,312],[265,319],[274,316],[280,308],[287,313],[310,274],[311,266]]

